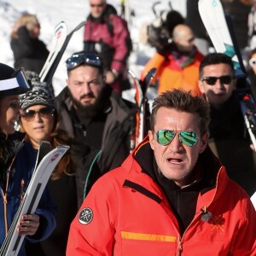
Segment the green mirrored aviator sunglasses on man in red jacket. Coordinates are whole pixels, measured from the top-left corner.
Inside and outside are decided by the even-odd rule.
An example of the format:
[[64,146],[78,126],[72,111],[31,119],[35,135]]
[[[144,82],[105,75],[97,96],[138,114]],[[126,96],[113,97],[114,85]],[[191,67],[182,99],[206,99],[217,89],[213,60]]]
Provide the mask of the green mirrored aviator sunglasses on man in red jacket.
[[160,143],[162,146],[166,146],[167,144],[171,143],[176,134],[178,134],[179,140],[189,147],[194,146],[198,140],[195,131],[160,130],[155,134],[157,143]]

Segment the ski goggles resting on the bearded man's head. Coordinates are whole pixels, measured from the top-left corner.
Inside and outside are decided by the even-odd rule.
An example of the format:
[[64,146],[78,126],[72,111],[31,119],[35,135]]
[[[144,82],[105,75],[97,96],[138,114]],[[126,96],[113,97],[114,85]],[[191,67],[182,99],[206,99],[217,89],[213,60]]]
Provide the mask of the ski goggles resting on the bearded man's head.
[[102,61],[99,56],[84,52],[73,54],[70,58],[67,59],[66,63],[68,71],[79,67],[83,63],[93,67],[102,67]]

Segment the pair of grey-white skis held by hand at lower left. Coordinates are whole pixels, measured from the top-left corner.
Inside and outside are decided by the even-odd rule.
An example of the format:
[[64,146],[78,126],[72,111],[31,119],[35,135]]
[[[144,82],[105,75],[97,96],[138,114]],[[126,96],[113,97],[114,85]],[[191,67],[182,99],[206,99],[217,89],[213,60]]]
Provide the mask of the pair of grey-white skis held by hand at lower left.
[[35,171],[33,172],[32,179],[9,228],[9,232],[3,241],[0,256],[18,255],[25,238],[25,236],[20,236],[17,231],[19,221],[22,215],[32,214],[36,211],[51,173],[61,160],[61,157],[67,152],[68,148],[69,146],[61,145],[50,150],[48,142],[40,143]]

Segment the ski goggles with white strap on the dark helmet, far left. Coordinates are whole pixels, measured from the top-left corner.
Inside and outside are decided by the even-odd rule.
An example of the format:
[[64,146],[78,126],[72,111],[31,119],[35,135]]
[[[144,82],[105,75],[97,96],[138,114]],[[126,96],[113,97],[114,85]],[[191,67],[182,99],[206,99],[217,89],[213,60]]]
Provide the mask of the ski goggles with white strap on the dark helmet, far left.
[[19,95],[28,90],[31,90],[31,86],[23,69],[16,71],[12,79],[0,80],[1,96]]

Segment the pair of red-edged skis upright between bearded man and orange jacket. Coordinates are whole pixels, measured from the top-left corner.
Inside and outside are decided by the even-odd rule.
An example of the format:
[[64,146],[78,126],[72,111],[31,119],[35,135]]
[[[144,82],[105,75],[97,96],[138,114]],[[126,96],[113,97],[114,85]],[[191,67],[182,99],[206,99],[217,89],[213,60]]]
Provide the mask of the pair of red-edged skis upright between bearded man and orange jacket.
[[138,143],[143,141],[143,138],[146,136],[147,131],[145,131],[145,122],[146,122],[146,111],[148,109],[148,98],[147,91],[148,86],[151,83],[151,80],[154,79],[156,73],[156,68],[152,68],[145,75],[143,80],[138,80],[134,73],[131,70],[128,70],[128,73],[131,76],[131,79],[136,90],[135,101],[137,104],[137,114],[136,114],[136,129],[135,129],[135,147]]

